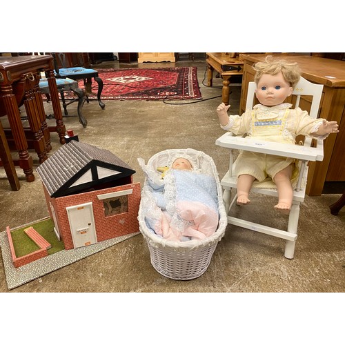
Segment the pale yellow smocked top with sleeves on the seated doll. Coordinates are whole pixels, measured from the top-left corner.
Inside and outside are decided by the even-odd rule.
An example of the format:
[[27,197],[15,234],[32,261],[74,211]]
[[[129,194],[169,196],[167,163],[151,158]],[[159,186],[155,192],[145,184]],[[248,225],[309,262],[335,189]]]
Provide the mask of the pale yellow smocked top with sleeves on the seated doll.
[[267,141],[295,144],[297,135],[324,139],[327,135],[313,135],[324,119],[313,119],[301,108],[291,109],[290,103],[268,107],[257,104],[252,110],[239,115],[230,115],[224,130],[235,135],[248,135]]

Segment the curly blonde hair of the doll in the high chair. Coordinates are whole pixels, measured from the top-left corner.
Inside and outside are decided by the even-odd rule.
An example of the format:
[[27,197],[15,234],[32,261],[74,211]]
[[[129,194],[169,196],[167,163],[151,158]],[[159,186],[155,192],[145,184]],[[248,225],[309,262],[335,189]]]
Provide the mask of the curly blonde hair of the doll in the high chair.
[[268,55],[265,61],[259,61],[253,66],[256,71],[254,81],[258,83],[262,75],[277,75],[282,72],[284,79],[295,88],[301,77],[301,70],[297,62],[288,62],[286,60],[274,59]]

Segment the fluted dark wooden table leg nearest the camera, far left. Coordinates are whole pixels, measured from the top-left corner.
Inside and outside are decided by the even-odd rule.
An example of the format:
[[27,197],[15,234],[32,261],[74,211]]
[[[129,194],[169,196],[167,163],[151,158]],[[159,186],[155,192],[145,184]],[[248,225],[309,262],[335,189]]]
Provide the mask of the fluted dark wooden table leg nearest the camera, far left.
[[3,94],[3,104],[8,115],[8,121],[10,122],[14,144],[19,153],[19,166],[23,169],[23,172],[26,175],[26,181],[32,182],[34,181],[32,157],[28,152],[28,141],[26,141],[17,100],[13,95],[12,86],[2,87],[1,93]]

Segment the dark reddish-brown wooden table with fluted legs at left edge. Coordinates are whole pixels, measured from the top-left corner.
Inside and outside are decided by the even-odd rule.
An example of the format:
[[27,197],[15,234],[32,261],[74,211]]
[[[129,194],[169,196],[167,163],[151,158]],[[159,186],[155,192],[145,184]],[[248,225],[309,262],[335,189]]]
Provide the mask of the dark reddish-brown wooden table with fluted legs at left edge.
[[[50,55],[0,57],[0,116],[7,115],[10,123],[10,140],[14,142],[19,152],[19,159],[14,164],[19,165],[28,182],[34,181],[32,157],[28,152],[28,141],[37,152],[39,161],[47,159],[50,146],[50,130],[46,123],[46,113],[43,108],[39,79],[41,72],[46,72],[52,108],[54,111],[56,132],[61,144],[65,143],[66,128],[63,125],[57,83],[54,76],[53,60]],[[29,130],[23,128],[19,107],[24,104]],[[9,140],[9,144],[10,144]]]

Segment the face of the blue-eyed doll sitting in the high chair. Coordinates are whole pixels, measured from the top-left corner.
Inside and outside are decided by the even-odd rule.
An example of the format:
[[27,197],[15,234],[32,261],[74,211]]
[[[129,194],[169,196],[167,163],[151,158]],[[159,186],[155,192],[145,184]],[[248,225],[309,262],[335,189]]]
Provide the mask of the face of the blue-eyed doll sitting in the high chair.
[[292,93],[293,88],[285,81],[282,72],[277,75],[262,75],[255,90],[257,99],[264,106],[282,104]]

